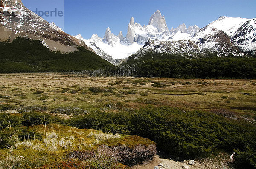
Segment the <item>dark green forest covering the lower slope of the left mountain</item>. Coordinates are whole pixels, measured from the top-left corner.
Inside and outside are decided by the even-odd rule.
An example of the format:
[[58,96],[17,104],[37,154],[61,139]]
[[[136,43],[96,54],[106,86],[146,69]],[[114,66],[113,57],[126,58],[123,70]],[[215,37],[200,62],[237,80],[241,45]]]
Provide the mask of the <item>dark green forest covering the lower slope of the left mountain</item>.
[[49,51],[36,40],[17,38],[0,42],[0,73],[81,71],[106,66],[111,64],[83,47],[63,54]]

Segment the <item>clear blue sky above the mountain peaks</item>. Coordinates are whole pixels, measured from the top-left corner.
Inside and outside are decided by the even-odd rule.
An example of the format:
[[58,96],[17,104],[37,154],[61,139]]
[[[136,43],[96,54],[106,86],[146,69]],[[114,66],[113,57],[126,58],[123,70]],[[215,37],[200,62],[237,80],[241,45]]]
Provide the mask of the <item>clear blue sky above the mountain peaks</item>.
[[[158,9],[166,18],[168,28],[185,23],[200,28],[218,19],[228,17],[256,17],[256,0],[23,0],[32,11],[63,11],[63,16],[42,16],[71,35],[81,34],[89,39],[92,34],[103,37],[107,27],[111,32],[127,33],[131,17],[147,25]],[[54,12],[52,15],[55,14]]]

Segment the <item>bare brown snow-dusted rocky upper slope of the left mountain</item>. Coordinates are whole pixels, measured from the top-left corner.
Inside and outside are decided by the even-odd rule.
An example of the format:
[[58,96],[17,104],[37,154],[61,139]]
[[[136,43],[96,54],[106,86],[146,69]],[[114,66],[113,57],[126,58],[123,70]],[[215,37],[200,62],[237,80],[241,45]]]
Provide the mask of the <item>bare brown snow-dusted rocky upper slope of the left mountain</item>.
[[48,23],[27,9],[21,0],[0,0],[0,40],[15,39],[18,36],[41,40],[52,51],[70,52],[76,51],[76,46],[84,46],[85,43],[62,31],[54,23]]

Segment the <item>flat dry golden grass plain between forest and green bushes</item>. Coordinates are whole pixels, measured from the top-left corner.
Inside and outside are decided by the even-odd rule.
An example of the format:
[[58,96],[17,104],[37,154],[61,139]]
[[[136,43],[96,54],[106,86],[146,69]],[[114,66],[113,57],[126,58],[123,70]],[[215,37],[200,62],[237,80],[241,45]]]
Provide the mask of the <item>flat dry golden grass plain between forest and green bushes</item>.
[[[164,88],[151,86],[154,82]],[[93,93],[88,90],[90,87],[111,91]],[[130,90],[136,90],[136,94],[128,94]],[[34,94],[35,91],[44,93]],[[255,103],[254,79],[92,78],[61,73],[0,75],[0,104],[17,107],[37,105],[49,110],[79,107],[87,111],[113,111],[152,104],[184,110],[226,108],[237,113],[255,113]]]

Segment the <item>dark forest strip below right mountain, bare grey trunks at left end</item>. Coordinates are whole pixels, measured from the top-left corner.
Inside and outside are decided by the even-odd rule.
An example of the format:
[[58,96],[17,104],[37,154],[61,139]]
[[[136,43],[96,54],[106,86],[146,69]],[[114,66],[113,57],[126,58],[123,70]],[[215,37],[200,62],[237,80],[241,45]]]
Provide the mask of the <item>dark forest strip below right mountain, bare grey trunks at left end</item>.
[[148,59],[79,73],[89,76],[255,79],[256,58]]

